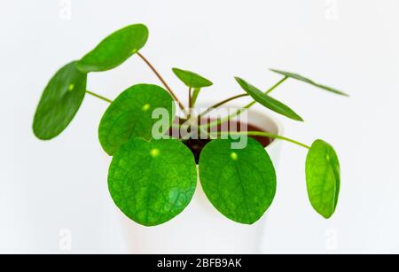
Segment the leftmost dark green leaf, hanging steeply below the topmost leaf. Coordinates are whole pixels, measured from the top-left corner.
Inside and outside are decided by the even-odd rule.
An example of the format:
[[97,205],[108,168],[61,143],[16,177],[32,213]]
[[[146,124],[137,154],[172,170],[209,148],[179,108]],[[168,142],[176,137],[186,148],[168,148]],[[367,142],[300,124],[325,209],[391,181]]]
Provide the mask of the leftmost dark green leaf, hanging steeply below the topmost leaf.
[[82,105],[86,83],[87,74],[82,74],[75,62],[62,67],[54,75],[36,109],[35,136],[50,140],[64,131]]

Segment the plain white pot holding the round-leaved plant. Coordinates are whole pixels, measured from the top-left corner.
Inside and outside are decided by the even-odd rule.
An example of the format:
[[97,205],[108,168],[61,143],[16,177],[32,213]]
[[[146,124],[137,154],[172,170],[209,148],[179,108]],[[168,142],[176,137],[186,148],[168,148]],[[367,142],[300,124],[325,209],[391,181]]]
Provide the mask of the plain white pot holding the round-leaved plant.
[[[264,113],[250,110],[252,125],[281,135],[280,124]],[[267,146],[275,167],[281,142]],[[192,202],[175,219],[157,227],[143,227],[121,214],[129,253],[194,254],[194,253],[259,253],[267,215],[248,226],[231,221],[207,200],[200,181]]]

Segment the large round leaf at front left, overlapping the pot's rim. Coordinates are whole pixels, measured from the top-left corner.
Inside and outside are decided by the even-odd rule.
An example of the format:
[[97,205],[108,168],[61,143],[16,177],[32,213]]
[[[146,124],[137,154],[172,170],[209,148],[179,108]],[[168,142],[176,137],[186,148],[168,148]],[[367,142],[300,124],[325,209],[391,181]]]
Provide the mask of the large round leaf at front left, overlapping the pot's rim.
[[192,152],[177,140],[130,140],[113,156],[108,175],[116,206],[145,226],[160,225],[183,212],[196,185]]

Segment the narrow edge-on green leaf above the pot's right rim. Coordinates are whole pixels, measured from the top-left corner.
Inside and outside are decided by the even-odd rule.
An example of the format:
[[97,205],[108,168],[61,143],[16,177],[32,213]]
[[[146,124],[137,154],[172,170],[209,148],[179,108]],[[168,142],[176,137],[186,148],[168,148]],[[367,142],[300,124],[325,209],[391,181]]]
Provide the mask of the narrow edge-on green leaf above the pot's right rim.
[[251,97],[253,97],[256,102],[259,102],[271,111],[280,113],[290,119],[303,121],[301,116],[293,112],[293,110],[287,105],[284,105],[278,100],[268,96],[267,94],[262,93],[260,89],[257,89],[256,87],[239,77],[236,77],[236,80],[237,82],[239,82],[241,88],[244,89]]

